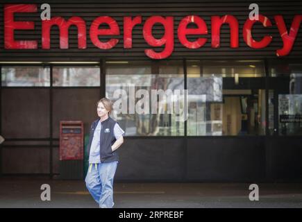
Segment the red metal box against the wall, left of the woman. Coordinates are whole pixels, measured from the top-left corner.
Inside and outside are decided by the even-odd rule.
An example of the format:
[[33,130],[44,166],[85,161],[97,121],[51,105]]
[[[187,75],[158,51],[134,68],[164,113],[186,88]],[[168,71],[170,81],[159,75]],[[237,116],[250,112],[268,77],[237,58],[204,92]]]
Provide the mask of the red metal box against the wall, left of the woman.
[[60,121],[60,160],[83,160],[82,121]]

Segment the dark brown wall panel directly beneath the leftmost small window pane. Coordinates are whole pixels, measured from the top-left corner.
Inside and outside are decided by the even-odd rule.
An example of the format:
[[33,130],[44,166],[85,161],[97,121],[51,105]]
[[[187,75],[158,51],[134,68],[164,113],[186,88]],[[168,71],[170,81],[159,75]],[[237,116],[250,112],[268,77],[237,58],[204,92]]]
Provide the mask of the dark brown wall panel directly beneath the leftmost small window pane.
[[49,89],[1,89],[2,135],[49,137]]

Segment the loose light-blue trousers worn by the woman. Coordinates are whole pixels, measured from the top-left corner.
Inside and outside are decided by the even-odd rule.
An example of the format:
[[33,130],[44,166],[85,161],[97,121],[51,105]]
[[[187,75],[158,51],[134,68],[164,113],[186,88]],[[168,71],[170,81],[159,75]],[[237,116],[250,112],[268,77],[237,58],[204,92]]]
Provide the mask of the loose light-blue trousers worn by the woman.
[[113,178],[117,169],[117,161],[90,164],[85,178],[86,187],[101,208],[112,208]]

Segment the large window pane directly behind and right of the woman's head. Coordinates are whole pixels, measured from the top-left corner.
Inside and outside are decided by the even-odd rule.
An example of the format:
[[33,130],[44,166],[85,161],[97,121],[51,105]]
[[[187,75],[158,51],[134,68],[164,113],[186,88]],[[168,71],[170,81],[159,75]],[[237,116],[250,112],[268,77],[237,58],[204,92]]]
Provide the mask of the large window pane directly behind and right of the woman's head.
[[[126,113],[117,114],[116,110],[112,113],[125,129],[126,135],[184,135],[184,122],[176,121],[178,114],[175,112],[167,112],[171,104],[165,99],[156,97],[156,101],[162,101],[162,105],[157,105],[163,108],[163,113],[159,112],[160,108],[156,113],[151,110],[152,90],[162,89],[162,92],[167,92],[171,89],[174,92],[175,89],[184,89],[182,62],[107,62],[106,74],[106,96],[118,101],[121,96],[114,98],[117,89],[123,90],[128,96]],[[137,107],[144,108],[146,104],[138,105],[137,102],[142,101],[144,96],[135,96],[136,93],[142,92],[142,89],[149,95],[149,107],[146,112],[138,113]]]

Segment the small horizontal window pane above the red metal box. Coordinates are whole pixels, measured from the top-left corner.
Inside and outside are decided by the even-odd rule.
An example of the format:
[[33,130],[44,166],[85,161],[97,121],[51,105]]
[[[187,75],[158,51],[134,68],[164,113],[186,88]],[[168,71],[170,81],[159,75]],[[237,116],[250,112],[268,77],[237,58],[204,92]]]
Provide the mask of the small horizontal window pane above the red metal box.
[[100,86],[99,67],[53,67],[53,86]]

